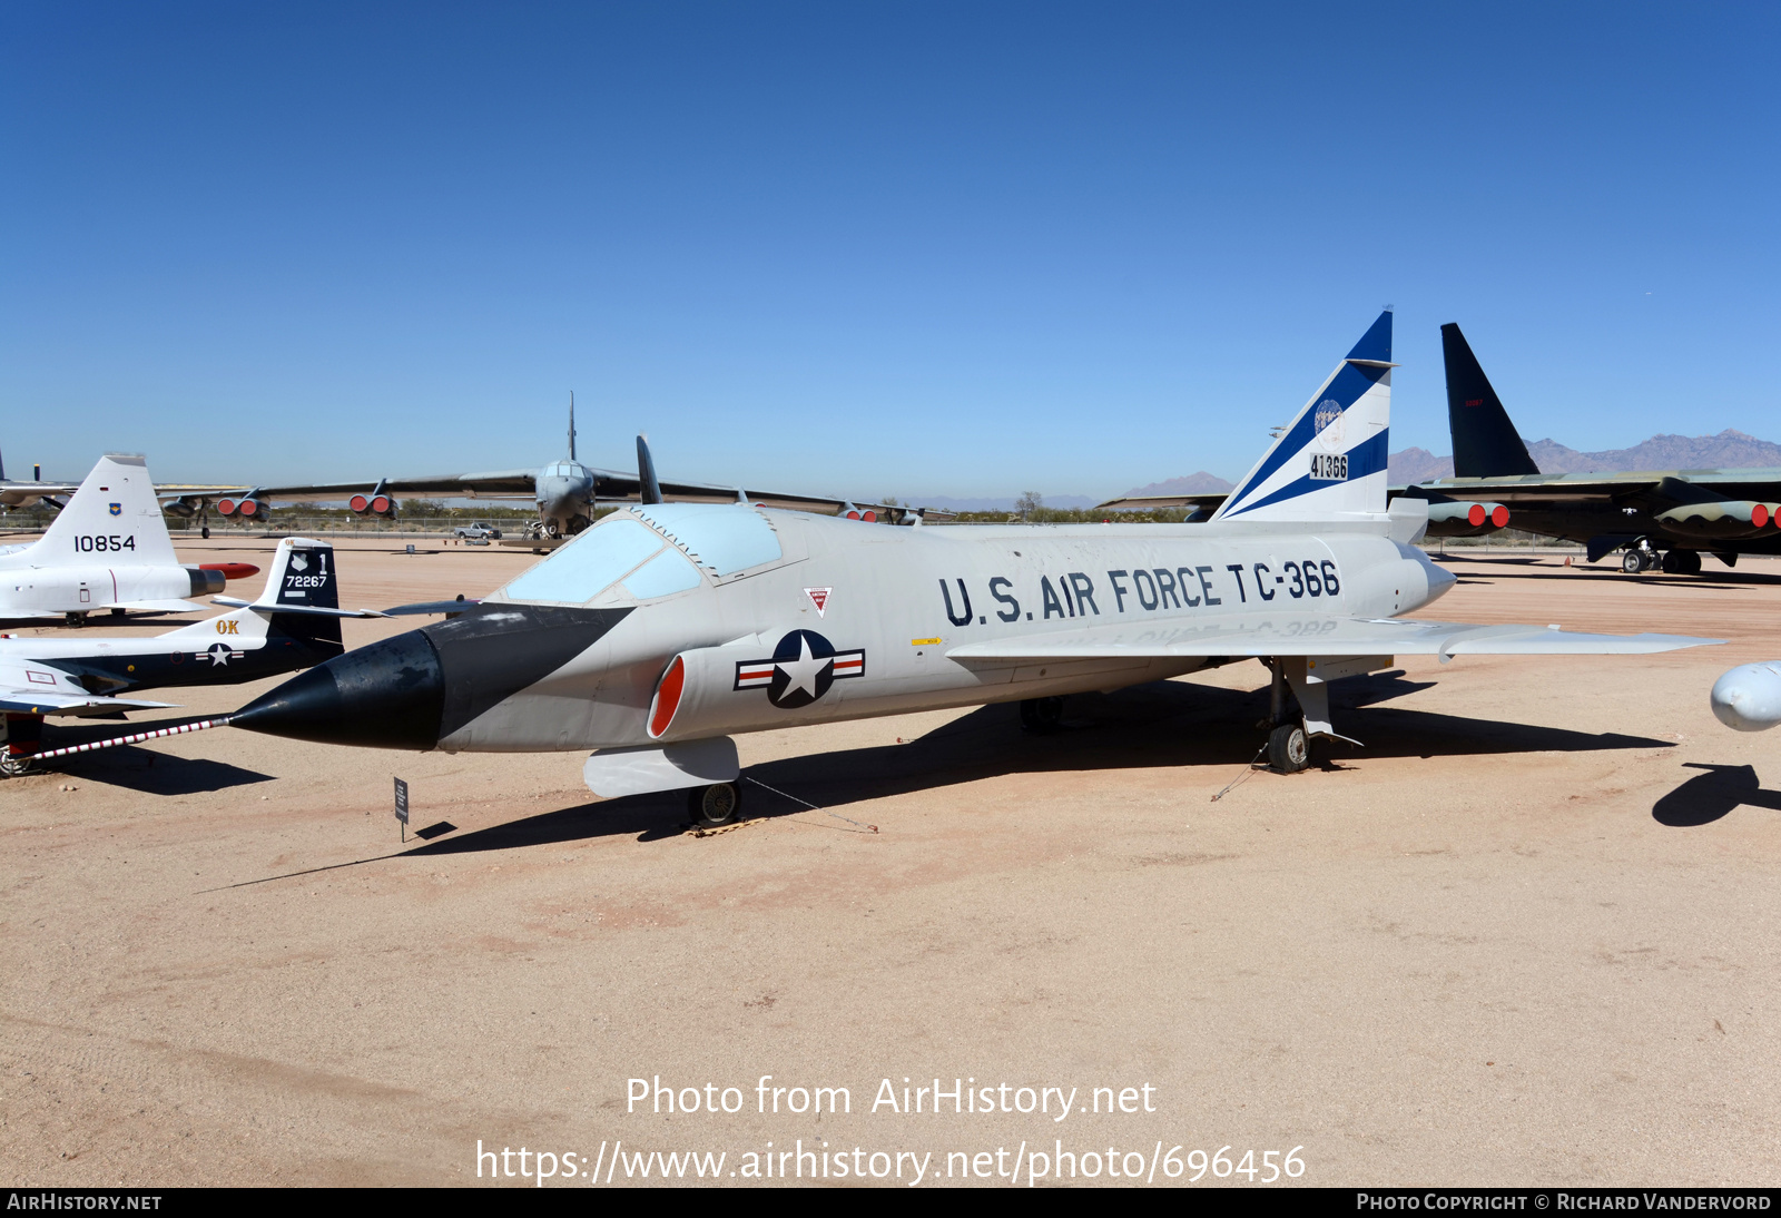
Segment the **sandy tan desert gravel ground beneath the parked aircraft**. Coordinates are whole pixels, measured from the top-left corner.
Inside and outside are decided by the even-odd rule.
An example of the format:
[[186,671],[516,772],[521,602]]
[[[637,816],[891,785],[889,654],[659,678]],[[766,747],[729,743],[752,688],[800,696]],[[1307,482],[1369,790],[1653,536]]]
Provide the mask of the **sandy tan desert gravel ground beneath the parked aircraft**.
[[[344,602],[376,607],[533,561],[340,550]],[[5,1175],[474,1184],[479,1140],[556,1168],[623,1140],[723,1152],[727,1184],[769,1141],[903,1184],[931,1154],[923,1186],[985,1163],[960,1152],[1008,1184],[1022,1143],[1095,1152],[1099,1184],[1131,1184],[1110,1149],[1129,1170],[1172,1147],[1256,1166],[1300,1147],[1309,1184],[1781,1182],[1781,734],[1706,705],[1720,671],[1781,655],[1781,563],[1453,568],[1428,616],[1729,645],[1409,659],[1339,687],[1366,748],[1297,776],[1245,769],[1252,662],[1072,698],[1049,737],[1008,705],[766,732],[741,737],[744,773],[787,798],[752,785],[762,819],[703,839],[680,798],[600,803],[559,753],[224,728],[5,782]],[[271,684],[175,691],[182,710],[137,721]],[[399,844],[392,775],[417,828],[452,828]],[[760,1076],[782,1104],[846,1086],[851,1113],[762,1115]],[[627,1111],[632,1077],[734,1086],[741,1111]],[[1049,1113],[873,1111],[905,1077],[1076,1088],[1078,1108],[1151,1090],[1063,1122],[1051,1093]]]

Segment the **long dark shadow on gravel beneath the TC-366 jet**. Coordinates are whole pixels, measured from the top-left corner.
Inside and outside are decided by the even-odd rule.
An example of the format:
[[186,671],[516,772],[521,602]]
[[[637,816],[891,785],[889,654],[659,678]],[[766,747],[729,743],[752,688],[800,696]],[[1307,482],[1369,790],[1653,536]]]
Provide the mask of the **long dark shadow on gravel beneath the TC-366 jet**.
[[[1615,732],[1592,734],[1528,723],[1377,707],[1430,687],[1384,673],[1346,680],[1332,691],[1336,725],[1366,743],[1354,751],[1336,746],[1338,760],[1378,757],[1460,757],[1480,753],[1598,751],[1674,748]],[[1170,766],[1243,766],[1256,757],[1263,734],[1256,721],[1268,712],[1268,691],[1216,689],[1179,680],[1152,682],[1111,694],[1078,694],[1065,703],[1063,727],[1047,735],[1021,730],[1013,703],[980,707],[907,744],[880,744],[834,753],[787,757],[750,766],[743,776],[743,816],[793,816],[809,808],[762,791],[766,784],[819,808],[912,791],[933,791],[1012,773],[1149,769]],[[1209,789],[1208,789],[1209,794]],[[817,814],[810,823],[844,828]],[[687,824],[684,792],[590,801],[429,842],[408,855],[459,855],[524,846],[550,846],[597,837],[636,835],[657,840]]]

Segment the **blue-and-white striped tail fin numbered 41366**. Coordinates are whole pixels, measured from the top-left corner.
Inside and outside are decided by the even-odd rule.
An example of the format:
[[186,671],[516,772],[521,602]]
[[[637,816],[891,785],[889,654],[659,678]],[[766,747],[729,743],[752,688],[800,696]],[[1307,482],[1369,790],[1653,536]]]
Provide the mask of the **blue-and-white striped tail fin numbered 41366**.
[[1393,367],[1391,310],[1386,310],[1213,520],[1384,513]]

